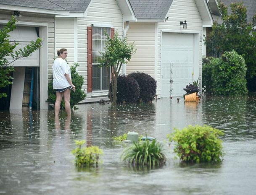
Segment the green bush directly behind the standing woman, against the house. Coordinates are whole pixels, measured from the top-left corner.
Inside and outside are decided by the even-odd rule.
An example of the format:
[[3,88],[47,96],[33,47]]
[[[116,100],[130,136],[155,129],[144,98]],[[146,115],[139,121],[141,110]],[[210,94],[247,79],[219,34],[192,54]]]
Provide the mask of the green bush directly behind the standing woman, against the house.
[[[86,94],[84,90],[82,90],[82,85],[84,84],[84,78],[77,73],[78,63],[74,63],[73,66],[70,67],[71,70],[71,78],[72,83],[76,86],[76,91],[71,91],[70,93],[70,107],[71,109],[77,109],[75,106],[80,101],[86,98]],[[47,101],[51,104],[55,104],[56,101],[56,92],[53,89],[53,80],[51,80],[48,84],[48,99]],[[61,109],[65,109],[64,100],[61,101]]]

